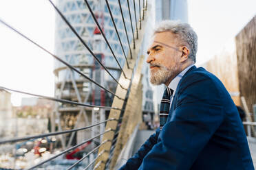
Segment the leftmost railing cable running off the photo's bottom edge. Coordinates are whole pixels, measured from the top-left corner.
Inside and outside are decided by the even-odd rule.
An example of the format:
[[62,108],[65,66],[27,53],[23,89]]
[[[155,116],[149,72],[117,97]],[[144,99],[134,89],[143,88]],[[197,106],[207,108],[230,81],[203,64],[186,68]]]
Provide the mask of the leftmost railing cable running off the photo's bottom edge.
[[28,170],[34,169],[36,167],[39,167],[40,165],[43,165],[45,162],[49,162],[50,160],[53,160],[54,158],[57,158],[58,156],[61,156],[61,155],[65,154],[65,153],[67,153],[68,151],[71,151],[72,149],[75,149],[76,147],[80,147],[81,145],[83,145],[83,144],[85,144],[85,143],[87,143],[89,141],[92,141],[94,138],[98,138],[98,136],[101,136],[101,135],[103,135],[103,134],[105,134],[107,132],[110,132],[110,131],[111,131],[111,129],[108,129],[108,130],[106,130],[103,133],[100,133],[100,134],[98,134],[98,135],[96,135],[96,136],[94,136],[92,138],[87,139],[86,141],[83,141],[82,143],[79,143],[78,145],[74,145],[74,147],[70,147],[69,149],[65,149],[64,151],[61,151],[61,153],[56,154],[55,156],[52,156],[51,158],[48,158],[47,160],[44,160],[43,162],[39,162],[39,164],[34,165],[33,167],[30,167]]

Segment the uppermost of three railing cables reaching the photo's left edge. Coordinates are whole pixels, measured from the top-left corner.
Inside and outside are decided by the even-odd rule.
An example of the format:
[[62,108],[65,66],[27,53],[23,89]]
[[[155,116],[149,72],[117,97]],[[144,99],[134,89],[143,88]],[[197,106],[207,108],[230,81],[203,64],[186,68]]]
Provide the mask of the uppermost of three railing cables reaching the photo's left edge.
[[[62,62],[63,64],[65,64],[66,66],[68,66],[70,69],[76,71],[76,73],[82,75],[83,77],[85,77],[87,80],[89,80],[90,82],[93,82],[94,84],[96,84],[97,86],[99,86],[100,88],[103,88],[104,90],[106,90],[108,93],[111,93],[112,95],[118,97],[118,95],[114,94],[113,92],[111,92],[110,90],[107,90],[107,88],[101,86],[100,84],[98,84],[97,82],[95,82],[94,80],[92,80],[90,77],[88,77],[87,75],[85,75],[84,73],[82,73],[81,71],[78,71],[78,69],[74,68],[74,66],[68,64],[67,62],[65,62],[64,60],[62,60],[61,58],[58,58],[57,56],[55,56],[53,53],[51,53],[50,51],[47,51],[47,49],[43,48],[41,45],[37,44],[36,42],[34,42],[33,40],[31,40],[30,38],[28,38],[27,36],[25,36],[24,34],[21,34],[21,32],[17,31],[17,29],[14,29],[14,27],[11,27],[10,25],[8,25],[8,23],[4,22],[3,20],[0,19],[0,23],[3,23],[3,25],[6,25],[6,27],[12,29],[12,31],[16,32],[17,34],[19,34],[20,36],[22,36],[23,38],[29,40],[30,42],[32,42],[34,45],[36,45],[37,47],[39,47],[40,49],[43,49],[43,51],[49,53],[52,57],[54,57],[56,60]],[[120,85],[120,84],[119,84]],[[118,97],[118,99],[122,99],[121,97]],[[122,99],[124,100],[124,99]]]

